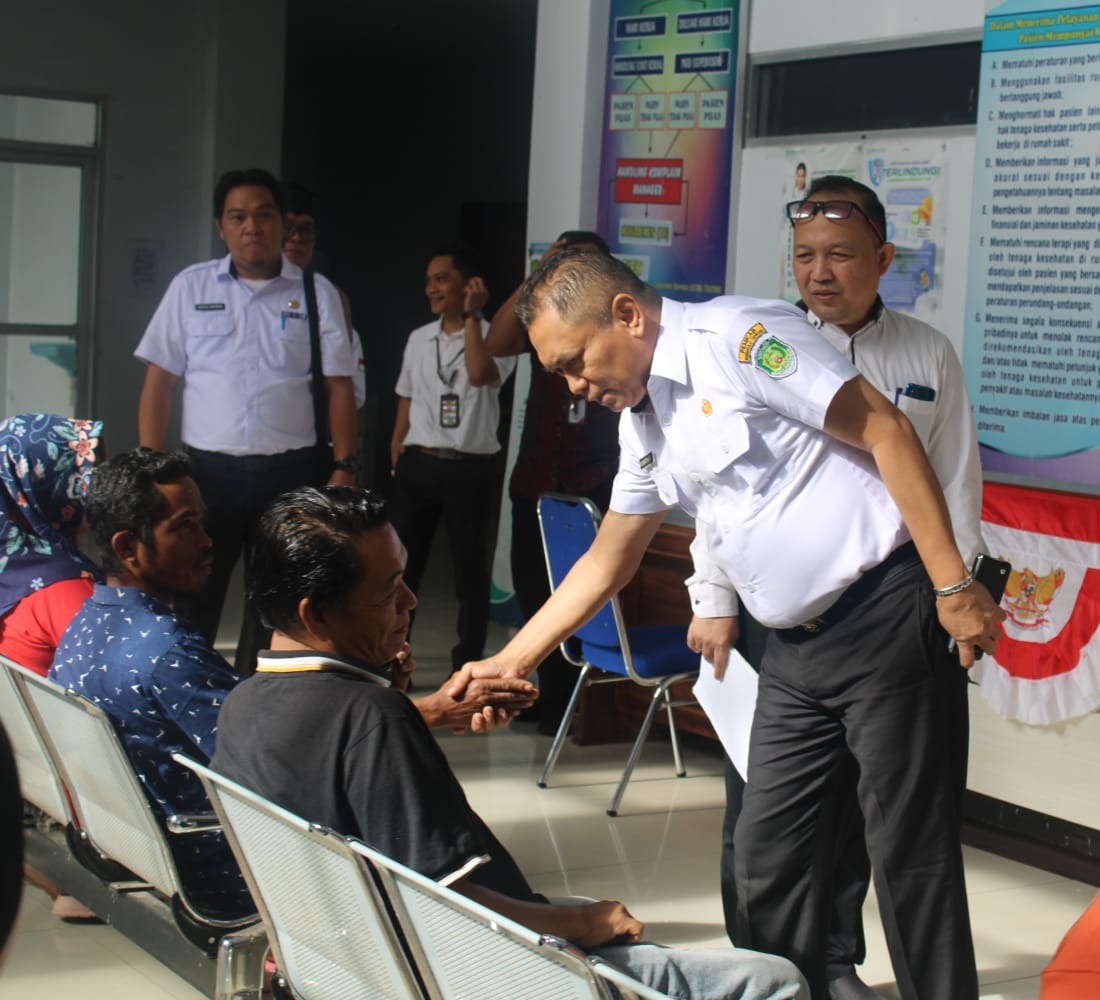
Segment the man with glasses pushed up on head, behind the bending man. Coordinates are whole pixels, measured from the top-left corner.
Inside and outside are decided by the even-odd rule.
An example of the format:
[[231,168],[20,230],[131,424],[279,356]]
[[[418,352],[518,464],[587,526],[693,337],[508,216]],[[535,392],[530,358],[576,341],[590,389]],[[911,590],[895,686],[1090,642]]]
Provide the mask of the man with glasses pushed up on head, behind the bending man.
[[[961,366],[947,338],[921,320],[886,308],[879,297],[879,281],[894,259],[894,245],[886,240],[882,204],[866,185],[831,175],[815,180],[804,198],[791,201],[787,213],[793,237],[792,270],[802,296],[800,308],[822,338],[892,399],[913,424],[943,486],[956,542],[969,565],[983,549],[981,464],[970,400]],[[693,551],[702,548],[705,553],[706,546],[706,529],[702,526]],[[738,609],[736,594],[716,587],[708,595],[705,583],[696,587],[690,582],[689,589],[701,591],[697,596],[705,603],[696,602],[696,607],[704,607],[708,615],[696,614],[692,641],[716,664],[725,664],[734,644],[751,663],[758,664],[767,630],[744,606]],[[961,815],[966,790],[969,737],[963,677],[948,701],[952,711],[943,729],[955,748],[956,820]],[[722,891],[726,927],[735,939],[734,832],[745,782],[728,760],[726,788]],[[829,997],[872,1000],[881,994],[865,986],[856,975],[856,966],[866,954],[861,910],[870,880],[870,861],[854,787],[848,788],[842,815],[842,847],[833,872],[829,914]]]

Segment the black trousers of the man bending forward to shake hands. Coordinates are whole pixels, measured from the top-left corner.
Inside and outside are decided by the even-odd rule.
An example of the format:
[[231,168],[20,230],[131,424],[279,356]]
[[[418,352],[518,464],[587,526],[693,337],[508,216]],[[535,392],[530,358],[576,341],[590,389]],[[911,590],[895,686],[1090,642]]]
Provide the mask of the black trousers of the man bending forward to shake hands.
[[855,782],[901,996],[975,1000],[957,759],[966,672],[947,652],[920,563],[871,578],[823,630],[768,636],[734,835],[737,943],[790,958],[825,1000],[837,845]]

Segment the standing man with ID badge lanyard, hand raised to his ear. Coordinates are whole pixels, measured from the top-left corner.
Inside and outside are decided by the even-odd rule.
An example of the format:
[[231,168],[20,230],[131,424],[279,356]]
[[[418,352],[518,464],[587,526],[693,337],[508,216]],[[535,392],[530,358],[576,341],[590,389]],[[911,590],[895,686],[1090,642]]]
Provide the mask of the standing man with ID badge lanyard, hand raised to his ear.
[[409,334],[397,377],[397,419],[389,443],[393,518],[408,551],[405,582],[416,593],[442,517],[459,598],[451,668],[481,659],[488,630],[488,519],[493,455],[501,450],[501,386],[514,358],[485,347],[488,299],[473,251],[439,248],[428,262],[425,294],[438,317]]

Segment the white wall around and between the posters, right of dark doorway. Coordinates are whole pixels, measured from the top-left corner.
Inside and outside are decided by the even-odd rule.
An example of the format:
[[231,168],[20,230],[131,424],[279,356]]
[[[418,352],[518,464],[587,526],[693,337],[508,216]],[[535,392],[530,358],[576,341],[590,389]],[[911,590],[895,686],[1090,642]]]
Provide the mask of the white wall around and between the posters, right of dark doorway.
[[[920,4],[757,0],[750,7],[747,45],[751,59],[949,43],[980,37],[985,13],[983,0]],[[595,223],[596,183],[591,178],[600,164],[607,20],[608,0],[543,0],[539,4],[529,240],[549,239],[566,226]],[[961,353],[974,134],[965,129],[903,134],[938,135],[948,145],[944,332]],[[800,144],[802,139],[790,143]],[[774,201],[755,198],[754,191],[771,191],[770,175],[782,162],[783,149],[751,145],[741,155],[741,176],[732,178],[737,188],[737,221],[730,292],[777,294],[780,228]],[[578,189],[579,184],[584,186]],[[1096,780],[1100,716],[1028,728],[994,715],[977,691],[971,691],[971,789],[1100,829],[1100,782]]]

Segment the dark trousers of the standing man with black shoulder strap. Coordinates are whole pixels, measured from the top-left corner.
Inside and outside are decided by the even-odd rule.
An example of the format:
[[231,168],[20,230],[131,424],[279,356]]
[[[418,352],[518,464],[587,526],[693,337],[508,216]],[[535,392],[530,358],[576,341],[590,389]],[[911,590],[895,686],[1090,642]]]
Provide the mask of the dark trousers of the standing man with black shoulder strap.
[[205,527],[213,541],[213,569],[202,592],[178,601],[177,606],[213,642],[229,581],[243,552],[245,601],[233,670],[249,677],[255,672],[256,655],[271,641],[271,630],[264,628],[248,600],[248,565],[256,524],[280,493],[323,482],[320,459],[314,448],[275,455],[227,455],[197,448],[185,451],[191,460],[191,479],[207,507]]

